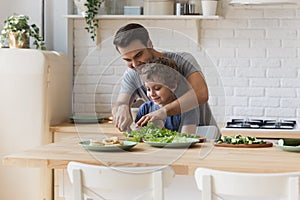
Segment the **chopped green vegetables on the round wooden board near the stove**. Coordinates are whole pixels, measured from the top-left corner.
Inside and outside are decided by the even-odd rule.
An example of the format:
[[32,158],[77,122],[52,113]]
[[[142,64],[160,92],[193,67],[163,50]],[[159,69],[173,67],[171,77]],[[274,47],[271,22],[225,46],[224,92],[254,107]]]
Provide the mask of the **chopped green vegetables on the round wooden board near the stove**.
[[266,144],[264,140],[258,140],[255,137],[251,136],[222,136],[217,140],[218,144],[226,143],[226,144]]

